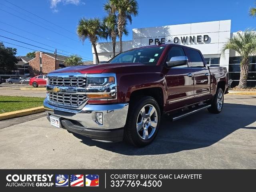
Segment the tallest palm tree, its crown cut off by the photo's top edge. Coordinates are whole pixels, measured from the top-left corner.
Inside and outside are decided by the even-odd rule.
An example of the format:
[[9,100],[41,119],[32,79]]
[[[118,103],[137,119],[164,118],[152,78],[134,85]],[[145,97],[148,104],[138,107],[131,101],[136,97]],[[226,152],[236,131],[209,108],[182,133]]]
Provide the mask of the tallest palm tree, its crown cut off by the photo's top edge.
[[108,2],[104,4],[104,9],[108,14],[117,14],[120,52],[122,52],[122,35],[126,27],[127,20],[132,24],[132,16],[138,15],[138,3],[136,0],[108,0]]

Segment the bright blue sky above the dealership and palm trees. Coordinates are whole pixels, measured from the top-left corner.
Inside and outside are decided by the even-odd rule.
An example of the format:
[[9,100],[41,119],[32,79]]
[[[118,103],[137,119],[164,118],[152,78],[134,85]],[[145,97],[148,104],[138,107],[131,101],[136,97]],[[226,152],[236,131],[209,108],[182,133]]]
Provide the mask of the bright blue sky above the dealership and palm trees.
[[[92,60],[91,44],[88,40],[84,44],[79,40],[76,26],[82,17],[105,16],[105,2],[106,0],[0,0],[0,41],[4,41],[5,46],[17,48],[17,56],[25,56],[33,50],[54,52],[56,48],[58,54],[78,54],[84,61]],[[256,28],[256,18],[248,15],[249,8],[256,7],[254,0],[137,2],[139,14],[133,18],[132,24],[128,24],[129,34],[123,40],[132,40],[132,28],[215,20],[231,19],[231,32]],[[103,41],[106,40],[100,40]]]

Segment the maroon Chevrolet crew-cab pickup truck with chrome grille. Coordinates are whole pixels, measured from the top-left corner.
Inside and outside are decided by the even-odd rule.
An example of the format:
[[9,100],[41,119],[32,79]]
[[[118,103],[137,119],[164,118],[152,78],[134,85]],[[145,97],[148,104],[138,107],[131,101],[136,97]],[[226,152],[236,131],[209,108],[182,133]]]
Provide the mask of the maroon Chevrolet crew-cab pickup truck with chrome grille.
[[176,44],[134,48],[106,64],[50,72],[44,109],[53,126],[103,142],[150,144],[161,116],[220,113],[225,67],[206,66],[199,50]]

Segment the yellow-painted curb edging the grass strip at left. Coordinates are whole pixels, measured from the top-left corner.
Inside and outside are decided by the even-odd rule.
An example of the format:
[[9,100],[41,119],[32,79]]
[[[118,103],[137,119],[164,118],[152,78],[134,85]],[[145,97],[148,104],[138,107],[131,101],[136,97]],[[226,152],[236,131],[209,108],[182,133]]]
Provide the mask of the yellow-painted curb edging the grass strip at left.
[[13,111],[13,112],[8,112],[8,113],[3,113],[3,114],[0,114],[0,121],[15,118],[15,117],[20,117],[20,116],[36,114],[36,113],[40,113],[40,112],[44,112],[44,107],[43,106],[30,108],[30,109],[19,110],[19,111]]

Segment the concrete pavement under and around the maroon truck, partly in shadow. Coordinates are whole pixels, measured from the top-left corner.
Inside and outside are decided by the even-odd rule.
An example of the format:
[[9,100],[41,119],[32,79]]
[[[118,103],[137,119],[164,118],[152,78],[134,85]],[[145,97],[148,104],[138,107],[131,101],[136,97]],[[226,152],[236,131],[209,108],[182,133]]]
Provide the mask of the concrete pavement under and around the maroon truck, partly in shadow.
[[156,140],[144,148],[73,135],[50,126],[46,117],[24,117],[16,125],[6,120],[0,168],[255,169],[255,114],[256,96],[225,95],[220,114],[203,110],[176,122],[163,118]]

